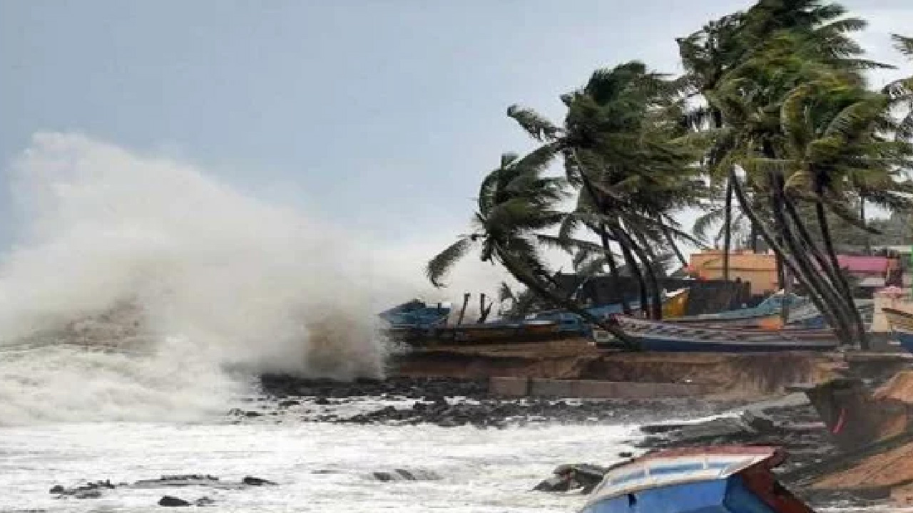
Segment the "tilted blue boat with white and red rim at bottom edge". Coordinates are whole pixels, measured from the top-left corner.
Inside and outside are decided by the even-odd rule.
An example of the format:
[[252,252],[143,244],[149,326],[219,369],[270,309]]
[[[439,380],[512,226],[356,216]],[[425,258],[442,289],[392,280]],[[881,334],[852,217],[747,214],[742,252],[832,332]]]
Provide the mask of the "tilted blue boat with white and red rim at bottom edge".
[[614,466],[581,513],[814,513],[772,469],[776,447],[672,449]]

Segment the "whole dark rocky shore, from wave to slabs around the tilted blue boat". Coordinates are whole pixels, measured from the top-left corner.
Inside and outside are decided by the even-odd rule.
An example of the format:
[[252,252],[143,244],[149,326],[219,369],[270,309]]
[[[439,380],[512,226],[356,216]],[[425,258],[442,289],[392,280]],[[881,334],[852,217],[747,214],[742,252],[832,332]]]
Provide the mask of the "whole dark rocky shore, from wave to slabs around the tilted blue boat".
[[[640,424],[642,453],[700,445],[777,445],[788,461],[777,469],[782,482],[817,507],[869,507],[883,504],[887,490],[812,489],[803,487],[810,473],[826,467],[841,449],[804,394],[766,403],[698,399],[579,400],[524,398],[504,400],[488,394],[483,380],[392,378],[388,380],[297,379],[263,376],[257,410],[236,410],[242,417],[277,418],[341,424],[434,424],[504,428],[530,423]],[[388,402],[388,403],[384,403]],[[384,403],[378,405],[378,403]],[[677,419],[669,421],[668,419]],[[697,420],[696,420],[697,419]],[[243,421],[242,421],[243,422]],[[543,476],[534,489],[586,493],[601,479],[607,464],[568,462]]]

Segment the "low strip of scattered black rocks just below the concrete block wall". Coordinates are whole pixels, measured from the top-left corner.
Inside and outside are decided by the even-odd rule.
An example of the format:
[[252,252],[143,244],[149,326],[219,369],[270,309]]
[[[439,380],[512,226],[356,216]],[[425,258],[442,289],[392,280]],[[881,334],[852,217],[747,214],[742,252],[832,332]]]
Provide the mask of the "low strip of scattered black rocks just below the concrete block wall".
[[264,395],[231,412],[238,419],[267,417],[282,422],[341,424],[436,424],[501,428],[530,423],[643,424],[665,418],[719,414],[738,402],[695,399],[575,400],[499,399],[487,380],[391,378],[387,380],[300,379],[265,375]]

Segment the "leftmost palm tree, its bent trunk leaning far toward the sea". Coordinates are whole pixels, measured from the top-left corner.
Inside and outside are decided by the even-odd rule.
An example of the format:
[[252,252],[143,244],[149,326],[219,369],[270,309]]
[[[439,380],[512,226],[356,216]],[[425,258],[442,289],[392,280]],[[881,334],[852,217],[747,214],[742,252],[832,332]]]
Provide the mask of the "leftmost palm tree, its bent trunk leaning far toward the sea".
[[484,262],[498,263],[540,298],[580,315],[613,333],[633,349],[631,340],[616,325],[599,319],[561,294],[537,248],[539,231],[557,225],[563,213],[557,205],[565,197],[564,180],[543,176],[553,151],[540,148],[519,158],[501,156],[498,168],[482,181],[473,231],[432,258],[425,269],[436,287],[443,287],[446,273],[477,247]]

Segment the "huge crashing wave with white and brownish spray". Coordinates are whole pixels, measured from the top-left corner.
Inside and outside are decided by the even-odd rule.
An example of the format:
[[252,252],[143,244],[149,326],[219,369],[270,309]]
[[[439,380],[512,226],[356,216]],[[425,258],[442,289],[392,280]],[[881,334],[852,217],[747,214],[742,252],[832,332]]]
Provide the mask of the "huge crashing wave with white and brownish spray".
[[0,423],[224,412],[226,369],[383,373],[377,293],[412,290],[328,225],[79,135],[35,136],[12,175]]

